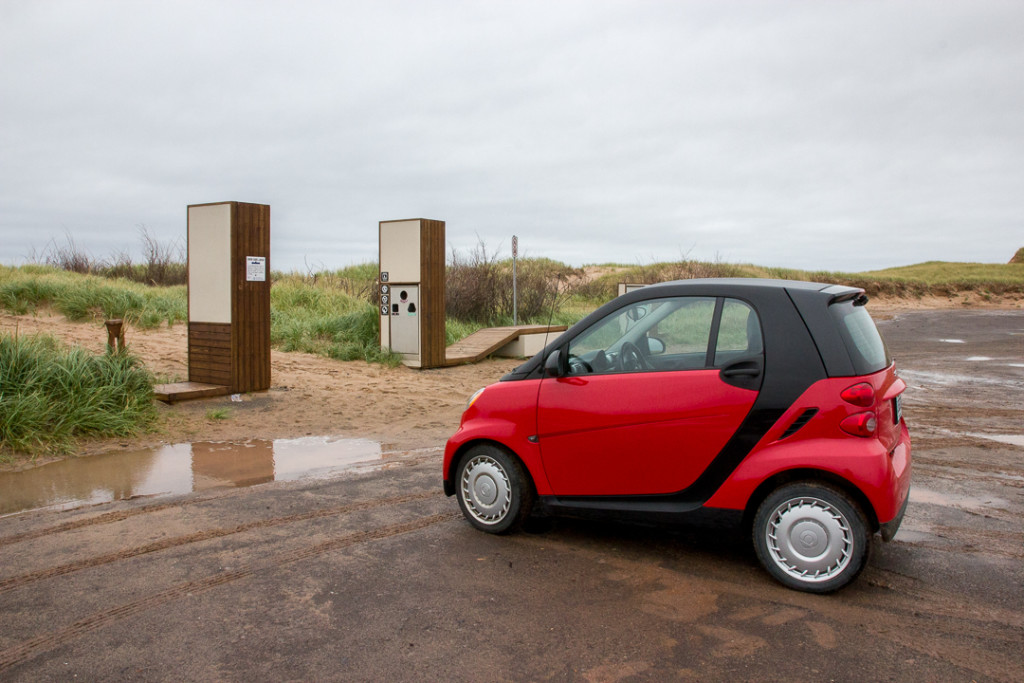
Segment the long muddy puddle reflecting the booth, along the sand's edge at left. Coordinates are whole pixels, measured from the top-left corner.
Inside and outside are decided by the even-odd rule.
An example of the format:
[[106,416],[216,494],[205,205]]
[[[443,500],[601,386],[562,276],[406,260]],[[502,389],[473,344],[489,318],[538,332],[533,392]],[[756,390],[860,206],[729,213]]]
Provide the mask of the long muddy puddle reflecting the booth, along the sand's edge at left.
[[176,443],[72,458],[0,473],[0,515],[321,478],[382,459],[376,441],[323,437]]

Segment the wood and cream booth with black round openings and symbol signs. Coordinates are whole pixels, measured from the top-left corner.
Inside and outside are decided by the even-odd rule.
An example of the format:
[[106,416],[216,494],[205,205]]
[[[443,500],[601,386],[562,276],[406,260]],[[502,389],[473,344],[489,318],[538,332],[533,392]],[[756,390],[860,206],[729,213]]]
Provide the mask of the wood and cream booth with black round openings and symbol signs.
[[380,222],[381,348],[411,368],[444,366],[444,221]]

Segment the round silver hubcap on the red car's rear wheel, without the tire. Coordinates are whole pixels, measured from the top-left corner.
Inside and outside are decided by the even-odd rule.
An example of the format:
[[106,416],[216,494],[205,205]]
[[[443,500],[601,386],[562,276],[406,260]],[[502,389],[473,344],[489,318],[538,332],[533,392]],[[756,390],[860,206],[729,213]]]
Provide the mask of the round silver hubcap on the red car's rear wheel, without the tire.
[[813,497],[794,498],[775,508],[765,540],[775,564],[805,582],[821,582],[841,573],[853,554],[849,520]]

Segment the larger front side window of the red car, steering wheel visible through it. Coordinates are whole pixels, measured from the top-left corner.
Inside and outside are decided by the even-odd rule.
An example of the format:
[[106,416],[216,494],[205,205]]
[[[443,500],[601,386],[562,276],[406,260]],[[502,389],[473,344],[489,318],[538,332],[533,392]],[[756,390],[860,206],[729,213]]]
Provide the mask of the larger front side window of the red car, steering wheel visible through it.
[[624,306],[569,342],[569,374],[703,368],[714,317],[714,297],[669,297]]

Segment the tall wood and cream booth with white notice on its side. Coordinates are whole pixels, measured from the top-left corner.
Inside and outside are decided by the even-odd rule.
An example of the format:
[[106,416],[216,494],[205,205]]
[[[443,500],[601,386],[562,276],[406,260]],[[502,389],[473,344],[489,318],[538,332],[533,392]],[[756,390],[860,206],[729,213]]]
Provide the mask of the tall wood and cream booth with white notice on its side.
[[[188,207],[188,380],[270,388],[270,207]],[[209,394],[207,394],[209,395]]]

